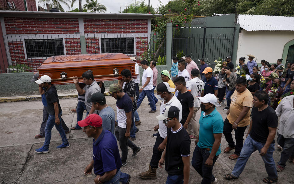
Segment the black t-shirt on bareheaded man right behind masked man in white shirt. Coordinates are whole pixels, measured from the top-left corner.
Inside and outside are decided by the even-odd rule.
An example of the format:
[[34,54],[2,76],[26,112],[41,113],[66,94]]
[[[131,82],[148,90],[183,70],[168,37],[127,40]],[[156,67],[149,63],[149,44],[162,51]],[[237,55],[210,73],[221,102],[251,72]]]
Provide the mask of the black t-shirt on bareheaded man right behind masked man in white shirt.
[[183,94],[181,93],[181,91],[179,91],[177,98],[182,104],[182,119],[180,123],[184,124],[190,112],[189,107],[194,107],[194,97],[189,91]]

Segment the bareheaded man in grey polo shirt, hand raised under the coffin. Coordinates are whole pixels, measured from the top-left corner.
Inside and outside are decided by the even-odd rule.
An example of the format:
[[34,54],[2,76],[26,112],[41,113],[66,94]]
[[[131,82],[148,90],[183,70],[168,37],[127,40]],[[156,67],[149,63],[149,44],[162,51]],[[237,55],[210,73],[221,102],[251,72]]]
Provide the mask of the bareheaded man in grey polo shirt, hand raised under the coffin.
[[[87,100],[91,99],[92,95],[97,92],[101,92],[101,88],[97,84],[96,80],[94,80],[93,73],[89,70],[82,74],[83,82],[86,84],[84,88],[81,88],[78,85],[78,78],[73,79],[75,88],[77,89],[78,93],[80,95],[85,94],[85,105],[87,108],[87,115],[97,113],[95,108],[93,107],[92,103],[89,103]],[[80,126],[78,126],[78,123],[75,127],[72,127],[71,130],[77,130],[81,129]]]

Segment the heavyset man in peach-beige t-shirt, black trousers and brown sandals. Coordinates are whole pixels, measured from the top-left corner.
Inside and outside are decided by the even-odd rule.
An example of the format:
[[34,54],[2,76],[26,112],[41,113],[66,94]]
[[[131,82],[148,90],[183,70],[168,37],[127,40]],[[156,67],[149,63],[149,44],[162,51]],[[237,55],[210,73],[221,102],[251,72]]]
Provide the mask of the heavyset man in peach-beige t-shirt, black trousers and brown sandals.
[[[239,157],[243,147],[243,137],[246,127],[250,124],[250,108],[252,108],[252,94],[246,88],[246,79],[240,77],[236,80],[236,90],[231,96],[230,109],[227,112],[227,118],[223,125],[223,135],[226,138],[228,147],[224,149],[224,153],[229,153],[235,149],[234,154],[229,159],[235,160]],[[235,130],[236,144],[234,143],[232,130]]]

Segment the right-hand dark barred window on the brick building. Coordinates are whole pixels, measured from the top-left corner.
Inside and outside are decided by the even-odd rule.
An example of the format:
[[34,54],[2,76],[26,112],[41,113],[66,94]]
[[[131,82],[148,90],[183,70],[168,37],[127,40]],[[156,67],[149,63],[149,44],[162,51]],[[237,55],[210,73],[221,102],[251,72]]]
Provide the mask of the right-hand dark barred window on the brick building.
[[134,54],[134,38],[101,38],[101,53]]

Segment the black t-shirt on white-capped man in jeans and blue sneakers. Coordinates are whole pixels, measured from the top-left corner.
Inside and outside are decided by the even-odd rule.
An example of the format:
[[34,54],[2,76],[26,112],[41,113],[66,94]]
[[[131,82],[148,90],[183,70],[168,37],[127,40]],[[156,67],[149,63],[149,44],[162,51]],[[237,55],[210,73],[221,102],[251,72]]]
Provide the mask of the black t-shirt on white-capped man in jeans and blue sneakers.
[[58,110],[59,110],[58,113],[60,113],[61,107],[59,104],[57,91],[54,85],[52,85],[50,88],[47,89],[47,91],[45,92],[45,96],[47,100],[48,114],[55,115],[54,104],[53,104],[55,102],[57,102],[58,104]]

